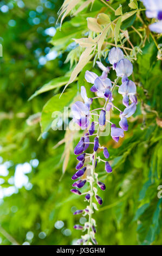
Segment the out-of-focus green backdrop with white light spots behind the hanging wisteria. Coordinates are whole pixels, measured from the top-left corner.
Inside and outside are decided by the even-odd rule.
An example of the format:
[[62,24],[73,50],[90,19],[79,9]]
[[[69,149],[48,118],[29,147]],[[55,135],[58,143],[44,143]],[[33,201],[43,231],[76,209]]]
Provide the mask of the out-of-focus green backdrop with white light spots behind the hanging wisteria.
[[[73,230],[73,225],[86,221],[85,217],[73,216],[85,204],[70,193],[76,162],[73,154],[59,181],[64,144],[53,147],[64,138],[64,131],[50,130],[40,137],[42,108],[59,88],[28,101],[43,84],[64,76],[70,68],[69,63],[63,64],[69,49],[61,53],[50,44],[59,26],[57,11],[62,2],[0,2],[1,245],[74,245],[80,231]],[[65,21],[68,20],[69,17]],[[135,70],[137,80],[145,84],[146,76],[149,78],[147,68],[153,63],[154,77],[148,79],[146,90],[139,88],[139,97],[160,112],[161,71],[160,64],[155,64],[155,51],[151,40],[144,49],[145,58],[138,57]],[[95,214],[100,245],[162,243],[161,199],[157,198],[161,182],[161,123],[157,114],[145,107],[142,103],[138,107],[139,123],[134,118],[136,130],[127,133],[121,147],[109,144],[116,148],[115,152],[110,150],[116,158],[113,175],[105,178],[108,189],[102,193],[103,207]]]

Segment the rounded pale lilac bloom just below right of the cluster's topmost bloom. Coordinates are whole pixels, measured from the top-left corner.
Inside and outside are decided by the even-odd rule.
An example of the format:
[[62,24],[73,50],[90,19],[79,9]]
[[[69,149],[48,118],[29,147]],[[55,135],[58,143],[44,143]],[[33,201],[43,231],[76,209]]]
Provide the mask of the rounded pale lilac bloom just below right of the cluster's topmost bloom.
[[115,68],[117,76],[131,76],[133,72],[133,65],[128,59],[121,59]]

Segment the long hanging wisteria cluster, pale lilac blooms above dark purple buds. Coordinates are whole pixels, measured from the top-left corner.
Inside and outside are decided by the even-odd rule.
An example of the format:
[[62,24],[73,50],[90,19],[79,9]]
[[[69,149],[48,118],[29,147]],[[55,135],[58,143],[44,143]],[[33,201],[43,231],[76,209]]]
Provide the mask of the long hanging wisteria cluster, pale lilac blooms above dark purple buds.
[[[97,205],[93,202],[95,198],[96,202],[101,205],[102,198],[98,194],[98,187],[101,190],[106,190],[105,184],[98,179],[98,173],[96,173],[97,163],[100,161],[105,163],[105,170],[107,173],[112,173],[112,167],[108,162],[109,153],[106,147],[101,146],[99,142],[100,129],[105,126],[106,123],[111,124],[111,137],[115,142],[119,141],[119,137],[124,137],[124,131],[128,130],[127,118],[134,114],[137,97],[135,83],[128,79],[133,72],[132,63],[124,57],[124,53],[120,48],[113,47],[108,55],[109,63],[112,64],[111,67],[105,67],[101,62],[97,62],[99,68],[102,70],[102,75],[98,76],[94,72],[86,71],[85,78],[86,81],[92,84],[90,90],[95,93],[93,98],[88,98],[85,87],[81,87],[81,96],[84,101],[76,101],[72,105],[73,120],[77,123],[81,129],[85,130],[85,134],[81,137],[79,143],[74,149],[74,154],[77,155],[76,159],[79,161],[76,165],[76,173],[72,176],[74,188],[71,190],[77,195],[85,195],[85,200],[89,203],[85,209],[77,210],[74,215],[82,214],[83,216],[88,215],[88,221],[84,226],[80,224],[74,225],[75,229],[87,231],[86,235],[82,235],[81,239],[78,240],[79,244],[90,245],[92,242],[97,244],[95,240],[96,233],[96,223],[94,218],[92,218],[94,209],[98,210]],[[116,80],[112,82],[108,78],[108,74],[111,70],[116,71]],[[118,86],[118,82],[121,78],[121,86]],[[118,93],[122,95],[122,102],[125,106],[124,111],[120,111],[113,103],[113,91],[118,88]],[[92,102],[95,99],[101,98],[105,101],[104,106],[97,109],[91,109]],[[118,109],[119,113],[119,126],[116,127],[114,123],[106,119],[106,113]],[[99,111],[100,114],[96,114],[97,121],[93,120],[94,111]],[[98,128],[96,128],[98,127]],[[96,131],[96,132],[95,132]],[[90,138],[94,139],[90,142]],[[93,152],[86,153],[89,145],[93,144]],[[103,150],[103,159],[98,156],[98,151]],[[88,191],[81,192],[80,189],[87,186]],[[91,241],[90,241],[91,240]]]

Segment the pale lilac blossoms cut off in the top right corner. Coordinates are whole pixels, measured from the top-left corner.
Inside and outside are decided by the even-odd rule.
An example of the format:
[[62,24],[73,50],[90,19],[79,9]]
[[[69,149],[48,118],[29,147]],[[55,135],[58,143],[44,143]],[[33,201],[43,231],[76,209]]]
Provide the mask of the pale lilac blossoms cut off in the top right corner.
[[142,0],[146,7],[146,16],[155,18],[159,21],[152,23],[149,28],[151,31],[162,33],[162,1],[161,0]]

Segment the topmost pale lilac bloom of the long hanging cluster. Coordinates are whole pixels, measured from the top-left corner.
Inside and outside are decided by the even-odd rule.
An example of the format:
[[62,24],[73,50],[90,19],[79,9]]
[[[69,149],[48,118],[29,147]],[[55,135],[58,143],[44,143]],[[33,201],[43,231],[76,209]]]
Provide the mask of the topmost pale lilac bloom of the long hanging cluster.
[[113,65],[113,69],[115,69],[116,64],[119,62],[119,60],[123,58],[124,58],[124,53],[121,51],[119,47],[116,47],[116,48],[113,47],[109,51],[108,60],[109,60],[109,63]]

